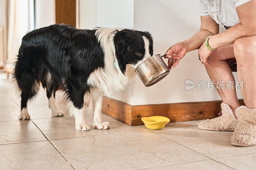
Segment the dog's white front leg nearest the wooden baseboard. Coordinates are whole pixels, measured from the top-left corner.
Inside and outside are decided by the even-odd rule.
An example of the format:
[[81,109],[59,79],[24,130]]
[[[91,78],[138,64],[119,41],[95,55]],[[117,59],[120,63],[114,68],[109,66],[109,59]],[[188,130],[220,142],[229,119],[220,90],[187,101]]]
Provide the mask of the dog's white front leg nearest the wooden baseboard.
[[101,109],[102,109],[103,95],[100,95],[94,101],[94,112],[93,112],[93,128],[95,129],[109,129],[109,123],[102,121]]

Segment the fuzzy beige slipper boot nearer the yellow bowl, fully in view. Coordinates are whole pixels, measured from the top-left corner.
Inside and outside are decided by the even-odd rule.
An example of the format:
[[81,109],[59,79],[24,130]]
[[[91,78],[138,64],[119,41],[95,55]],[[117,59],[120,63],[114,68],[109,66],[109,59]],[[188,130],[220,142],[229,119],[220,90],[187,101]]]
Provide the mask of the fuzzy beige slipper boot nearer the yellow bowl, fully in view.
[[219,130],[219,131],[234,131],[237,124],[231,108],[226,103],[221,103],[222,115],[213,119],[207,119],[206,121],[198,124],[199,129],[204,130]]

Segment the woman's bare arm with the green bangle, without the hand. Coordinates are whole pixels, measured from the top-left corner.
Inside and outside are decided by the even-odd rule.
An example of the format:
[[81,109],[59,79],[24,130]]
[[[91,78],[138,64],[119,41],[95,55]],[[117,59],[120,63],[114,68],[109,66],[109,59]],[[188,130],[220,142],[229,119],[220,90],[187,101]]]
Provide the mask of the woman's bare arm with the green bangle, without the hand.
[[211,48],[233,44],[240,37],[256,35],[256,0],[249,1],[236,7],[240,23],[228,30],[209,38]]

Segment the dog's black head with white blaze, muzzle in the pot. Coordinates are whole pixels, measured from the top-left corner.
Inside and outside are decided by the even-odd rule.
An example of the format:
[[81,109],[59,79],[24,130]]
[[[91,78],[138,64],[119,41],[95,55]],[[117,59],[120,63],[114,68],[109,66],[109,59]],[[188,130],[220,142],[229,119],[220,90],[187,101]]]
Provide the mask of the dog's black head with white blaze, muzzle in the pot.
[[153,39],[150,33],[124,29],[114,36],[116,58],[124,73],[127,64],[136,68],[146,58],[153,55]]

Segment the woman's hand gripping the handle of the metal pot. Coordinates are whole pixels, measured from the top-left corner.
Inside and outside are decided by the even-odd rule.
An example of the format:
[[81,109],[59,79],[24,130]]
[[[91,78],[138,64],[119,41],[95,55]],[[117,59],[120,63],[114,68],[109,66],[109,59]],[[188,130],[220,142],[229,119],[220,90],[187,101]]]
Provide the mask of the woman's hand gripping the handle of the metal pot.
[[[184,55],[187,53],[187,48],[182,42],[178,42],[174,44],[171,48],[169,48],[164,56],[164,58],[169,58],[168,60],[168,67],[171,66],[174,68],[176,65],[178,65],[179,61],[184,57]],[[172,60],[172,61],[171,61]],[[172,67],[169,70],[172,70]]]

